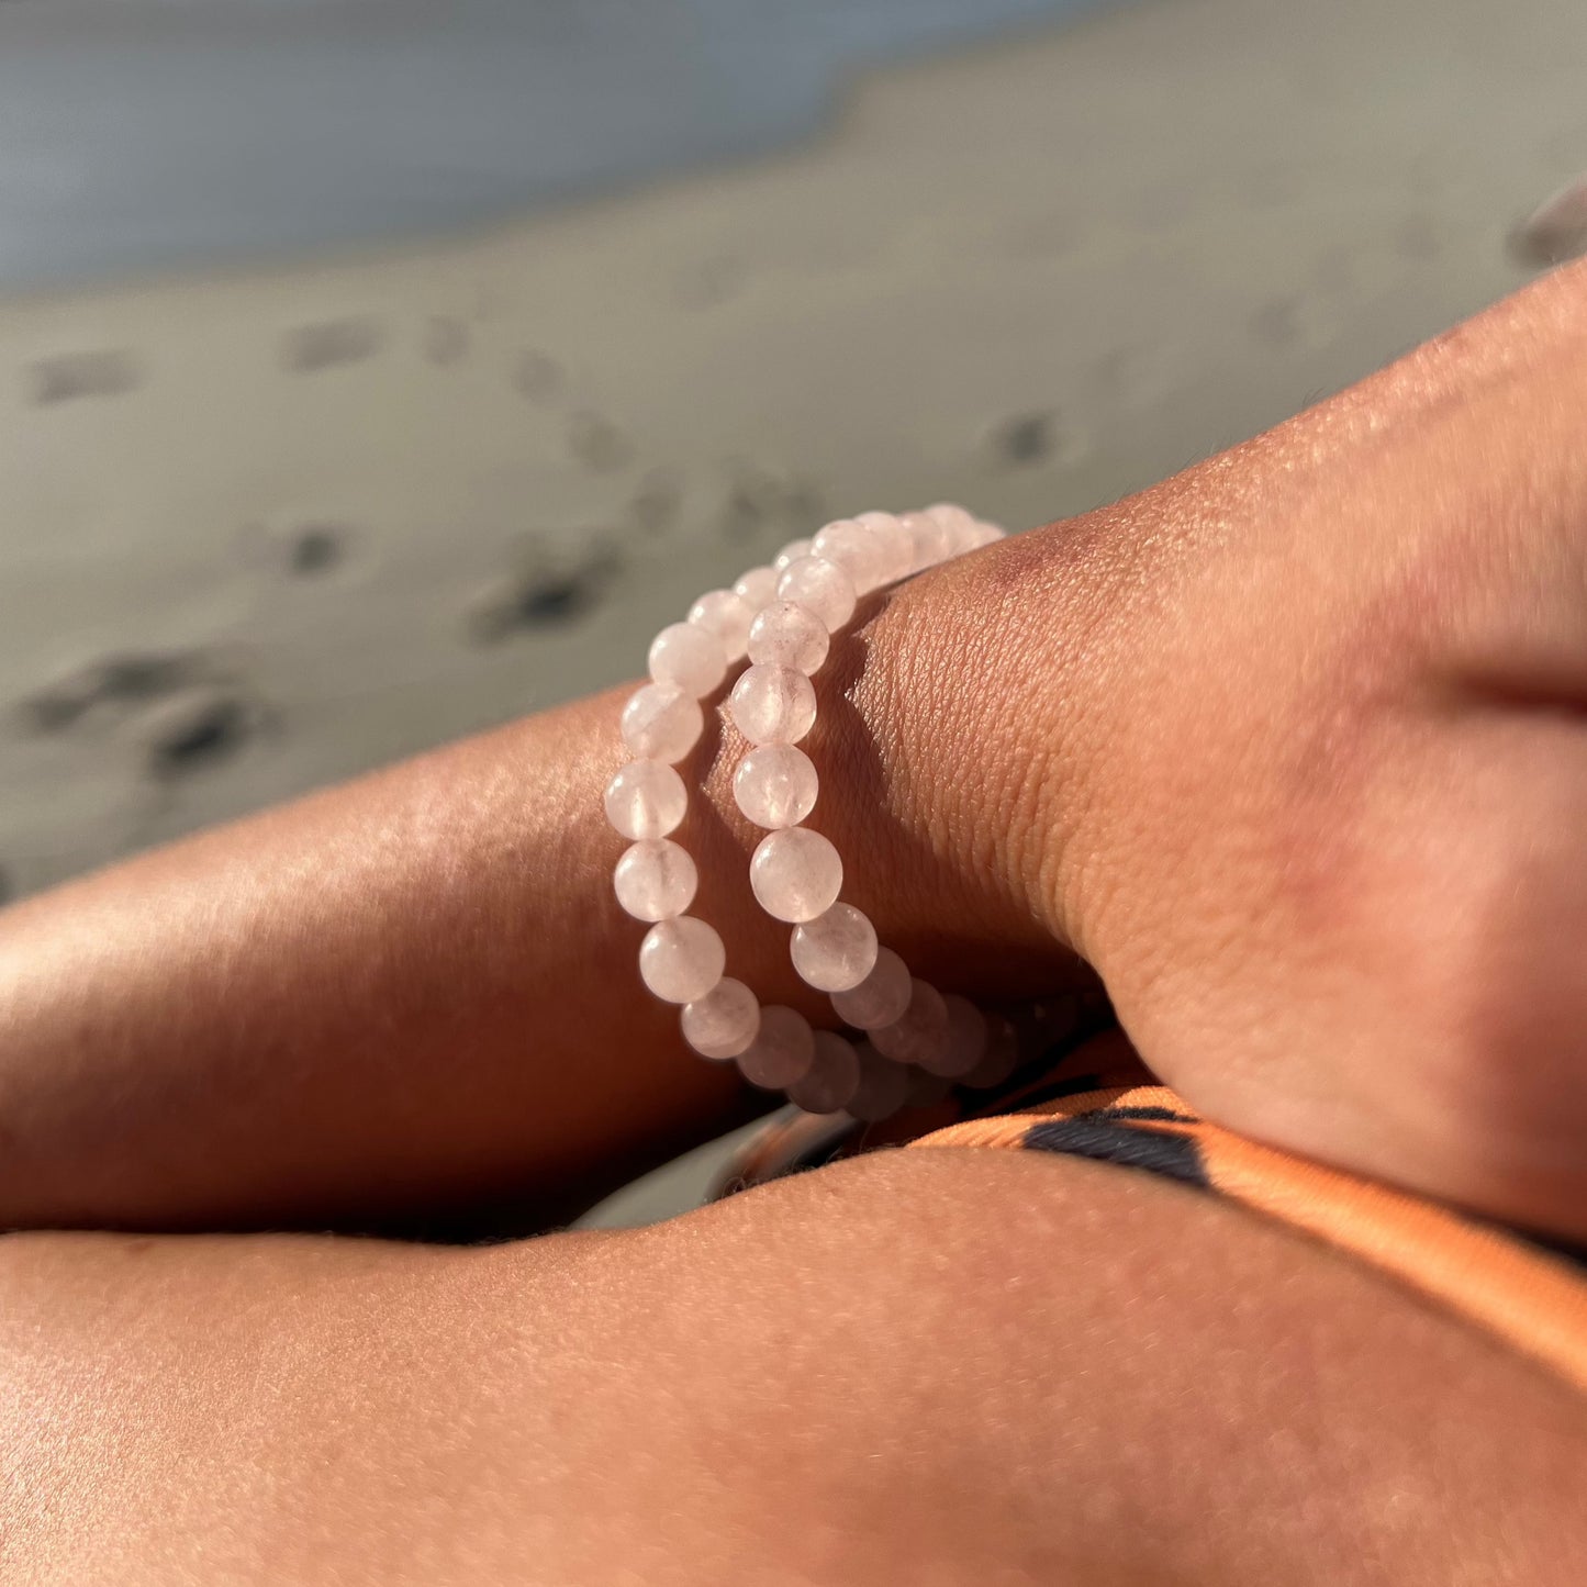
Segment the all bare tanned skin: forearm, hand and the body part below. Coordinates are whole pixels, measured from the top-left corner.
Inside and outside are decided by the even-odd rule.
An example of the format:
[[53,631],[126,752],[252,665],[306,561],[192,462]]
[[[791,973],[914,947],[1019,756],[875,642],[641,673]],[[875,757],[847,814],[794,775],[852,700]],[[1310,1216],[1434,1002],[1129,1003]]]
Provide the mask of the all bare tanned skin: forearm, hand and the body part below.
[[[1562,271],[874,603],[811,746],[847,895],[949,989],[1082,955],[1235,1128],[1587,1238],[1584,408]],[[0,916],[0,1219],[544,1227],[733,1117],[621,970],[616,703]],[[800,1001],[740,747],[679,836]],[[29,1582],[1549,1584],[1587,1541],[1579,1397],[1081,1163],[882,1154],[487,1251],[21,1235],[0,1297]]]

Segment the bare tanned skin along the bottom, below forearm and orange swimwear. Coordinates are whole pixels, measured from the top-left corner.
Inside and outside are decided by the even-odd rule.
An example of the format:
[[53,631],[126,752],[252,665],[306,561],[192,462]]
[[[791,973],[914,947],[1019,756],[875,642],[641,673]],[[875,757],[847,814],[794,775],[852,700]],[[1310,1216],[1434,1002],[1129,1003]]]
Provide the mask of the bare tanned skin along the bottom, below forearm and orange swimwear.
[[1081,1162],[887,1152],[471,1251],[3,1263],[0,1576],[30,1587],[1570,1587],[1587,1547],[1576,1397]]

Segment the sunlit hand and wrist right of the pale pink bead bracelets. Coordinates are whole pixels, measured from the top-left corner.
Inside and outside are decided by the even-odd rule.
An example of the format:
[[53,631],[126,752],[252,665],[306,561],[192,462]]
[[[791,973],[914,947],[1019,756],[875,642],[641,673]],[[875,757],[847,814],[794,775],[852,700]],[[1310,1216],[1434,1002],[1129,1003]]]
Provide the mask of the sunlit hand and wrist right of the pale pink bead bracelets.
[[1584,419],[1577,268],[906,587],[860,686],[978,930],[1078,947],[1192,1103],[1576,1238]]

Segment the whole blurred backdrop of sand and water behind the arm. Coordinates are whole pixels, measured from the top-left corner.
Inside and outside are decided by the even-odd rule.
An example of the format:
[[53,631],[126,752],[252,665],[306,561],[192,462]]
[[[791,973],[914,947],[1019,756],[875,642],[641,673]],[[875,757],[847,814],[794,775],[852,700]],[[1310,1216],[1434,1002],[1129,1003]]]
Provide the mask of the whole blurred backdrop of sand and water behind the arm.
[[1584,68],[1581,0],[0,0],[0,893],[1285,417],[1587,246]]

